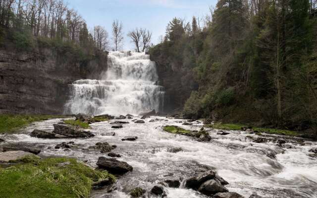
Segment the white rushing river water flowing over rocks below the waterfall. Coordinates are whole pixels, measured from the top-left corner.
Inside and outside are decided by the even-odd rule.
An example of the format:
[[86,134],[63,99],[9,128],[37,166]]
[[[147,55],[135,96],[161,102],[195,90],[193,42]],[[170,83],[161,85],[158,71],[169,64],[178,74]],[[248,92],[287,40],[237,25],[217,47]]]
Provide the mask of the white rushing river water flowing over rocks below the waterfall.
[[[154,119],[155,117],[151,117]],[[316,142],[290,139],[286,145],[292,148],[280,148],[276,143],[253,143],[244,131],[229,131],[226,136],[217,135],[218,130],[209,130],[211,142],[197,142],[191,137],[164,132],[164,125],[180,125],[179,119],[167,119],[137,124],[129,121],[121,129],[112,129],[108,121],[91,125],[96,136],[90,139],[37,139],[28,134],[33,129],[53,130],[53,123],[59,119],[37,122],[21,134],[7,135],[8,142],[34,144],[42,148],[40,156],[68,156],[86,161],[97,167],[99,156],[107,155],[99,150],[88,149],[97,142],[108,142],[117,145],[113,152],[122,155],[117,158],[133,166],[133,171],[120,176],[117,190],[106,193],[103,190],[93,191],[92,198],[129,198],[131,189],[141,186],[149,189],[166,177],[184,180],[196,170],[208,166],[214,169],[230,184],[226,187],[246,198],[257,193],[267,198],[317,198],[317,160],[307,156],[308,150],[317,147]],[[164,121],[166,120],[166,121]],[[200,124],[182,126],[198,130]],[[115,132],[115,136],[106,136]],[[124,136],[138,136],[137,141],[121,141]],[[61,142],[74,141],[75,147],[69,151],[53,149]],[[53,148],[48,148],[53,147]],[[168,152],[168,148],[181,147],[183,151]],[[275,156],[275,157],[274,157]],[[165,188],[168,198],[204,198],[193,190],[182,188]]]

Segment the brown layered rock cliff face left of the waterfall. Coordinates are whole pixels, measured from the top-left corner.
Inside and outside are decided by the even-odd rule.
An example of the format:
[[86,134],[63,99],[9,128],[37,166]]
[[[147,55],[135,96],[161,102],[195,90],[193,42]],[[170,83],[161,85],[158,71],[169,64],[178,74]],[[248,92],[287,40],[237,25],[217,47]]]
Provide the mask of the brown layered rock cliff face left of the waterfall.
[[0,49],[0,113],[61,114],[68,84],[98,79],[107,67],[106,52],[85,61],[56,49]]

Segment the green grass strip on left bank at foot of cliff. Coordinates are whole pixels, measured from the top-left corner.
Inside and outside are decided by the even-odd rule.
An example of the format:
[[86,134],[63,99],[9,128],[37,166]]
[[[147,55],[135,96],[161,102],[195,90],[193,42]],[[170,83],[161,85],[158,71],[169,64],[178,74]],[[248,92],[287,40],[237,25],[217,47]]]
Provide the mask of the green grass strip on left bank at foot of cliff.
[[32,122],[53,119],[64,118],[63,115],[12,115],[12,114],[0,114],[0,134],[12,133],[17,129],[24,127]]

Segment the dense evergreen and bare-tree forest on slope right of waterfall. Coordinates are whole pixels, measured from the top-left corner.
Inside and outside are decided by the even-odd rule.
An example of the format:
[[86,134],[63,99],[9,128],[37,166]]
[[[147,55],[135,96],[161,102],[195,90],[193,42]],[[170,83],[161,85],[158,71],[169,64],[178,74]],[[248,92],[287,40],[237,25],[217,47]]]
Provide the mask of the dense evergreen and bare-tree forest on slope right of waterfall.
[[316,8],[316,0],[219,0],[203,19],[171,20],[151,55],[192,73],[187,117],[316,129]]

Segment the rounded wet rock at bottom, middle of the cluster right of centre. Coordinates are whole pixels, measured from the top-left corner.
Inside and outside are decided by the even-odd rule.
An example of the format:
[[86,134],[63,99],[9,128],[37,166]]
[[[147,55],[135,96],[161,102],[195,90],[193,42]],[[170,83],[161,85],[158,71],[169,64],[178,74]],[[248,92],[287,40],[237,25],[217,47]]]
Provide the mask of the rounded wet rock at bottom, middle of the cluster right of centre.
[[204,195],[211,196],[217,193],[225,193],[228,190],[220,184],[216,179],[211,179],[204,182],[198,189]]

